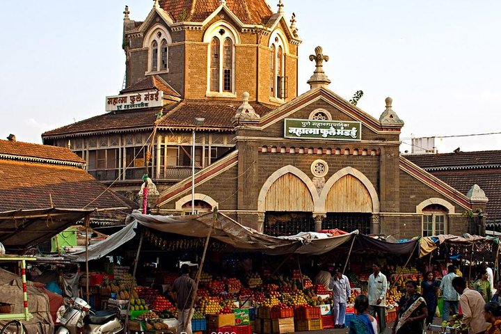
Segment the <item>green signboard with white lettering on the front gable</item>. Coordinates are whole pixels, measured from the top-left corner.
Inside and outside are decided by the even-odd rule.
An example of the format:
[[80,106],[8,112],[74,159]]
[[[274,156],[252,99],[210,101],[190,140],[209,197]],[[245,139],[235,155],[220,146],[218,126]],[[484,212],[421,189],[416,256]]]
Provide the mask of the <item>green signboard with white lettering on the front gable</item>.
[[362,123],[347,120],[299,120],[286,118],[285,138],[333,139],[336,141],[362,140]]

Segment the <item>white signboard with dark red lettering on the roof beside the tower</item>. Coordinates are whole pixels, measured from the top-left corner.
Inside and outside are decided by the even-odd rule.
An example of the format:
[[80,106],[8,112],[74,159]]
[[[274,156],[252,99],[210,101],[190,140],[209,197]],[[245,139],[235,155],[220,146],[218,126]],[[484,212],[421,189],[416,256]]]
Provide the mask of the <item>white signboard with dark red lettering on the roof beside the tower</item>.
[[145,92],[106,96],[106,111],[152,108],[163,105],[163,90],[147,90]]

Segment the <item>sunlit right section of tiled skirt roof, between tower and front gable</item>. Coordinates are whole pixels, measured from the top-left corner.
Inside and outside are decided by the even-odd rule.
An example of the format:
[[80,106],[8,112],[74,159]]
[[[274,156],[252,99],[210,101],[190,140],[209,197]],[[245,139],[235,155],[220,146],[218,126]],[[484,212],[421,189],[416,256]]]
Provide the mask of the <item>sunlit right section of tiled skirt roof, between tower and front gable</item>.
[[[231,118],[237,113],[241,102],[222,101],[187,101],[177,104],[166,113],[159,122],[160,127],[193,127],[195,118],[205,118],[202,126],[217,129],[233,129]],[[264,116],[273,110],[273,106],[262,103],[250,103],[256,113]]]

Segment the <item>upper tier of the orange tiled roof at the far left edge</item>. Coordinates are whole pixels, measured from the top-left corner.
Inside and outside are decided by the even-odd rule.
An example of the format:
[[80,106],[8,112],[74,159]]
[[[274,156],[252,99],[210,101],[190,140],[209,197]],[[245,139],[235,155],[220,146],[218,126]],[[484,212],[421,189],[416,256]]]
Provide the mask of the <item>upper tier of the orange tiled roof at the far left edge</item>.
[[12,156],[13,159],[20,160],[44,159],[85,164],[85,160],[81,159],[77,154],[74,154],[67,148],[58,148],[56,146],[33,143],[23,143],[21,141],[0,140],[0,155],[2,155],[3,157],[5,157],[6,155]]

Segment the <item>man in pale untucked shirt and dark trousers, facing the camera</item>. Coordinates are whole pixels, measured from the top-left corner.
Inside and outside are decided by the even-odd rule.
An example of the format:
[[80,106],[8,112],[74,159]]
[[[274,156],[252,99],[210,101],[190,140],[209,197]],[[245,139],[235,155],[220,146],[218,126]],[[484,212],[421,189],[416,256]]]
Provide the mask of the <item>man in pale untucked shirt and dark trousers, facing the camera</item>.
[[379,318],[379,334],[384,334],[386,330],[386,289],[388,289],[388,280],[381,273],[381,264],[372,264],[372,270],[369,276],[369,287],[367,298],[369,299],[369,315]]

